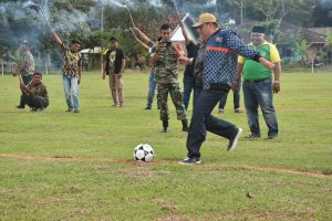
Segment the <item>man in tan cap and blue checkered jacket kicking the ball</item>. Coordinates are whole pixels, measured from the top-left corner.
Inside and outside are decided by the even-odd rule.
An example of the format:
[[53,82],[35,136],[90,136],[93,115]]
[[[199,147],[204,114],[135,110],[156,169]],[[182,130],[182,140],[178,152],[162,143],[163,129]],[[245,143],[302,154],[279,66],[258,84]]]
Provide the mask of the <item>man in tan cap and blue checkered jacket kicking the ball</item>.
[[[196,60],[201,66],[203,90],[195,102],[194,113],[187,137],[188,154],[179,161],[185,165],[200,164],[200,146],[206,139],[206,131],[225,137],[229,140],[227,150],[236,148],[238,139],[242,133],[226,120],[211,115],[220,97],[229,92],[236,81],[236,66],[238,54],[262,63],[267,69],[272,70],[273,64],[262,57],[257,51],[243,44],[234,31],[218,28],[217,19],[214,14],[200,14],[198,23],[194,28],[200,31],[203,44]],[[183,64],[188,64],[194,59],[179,57]]]

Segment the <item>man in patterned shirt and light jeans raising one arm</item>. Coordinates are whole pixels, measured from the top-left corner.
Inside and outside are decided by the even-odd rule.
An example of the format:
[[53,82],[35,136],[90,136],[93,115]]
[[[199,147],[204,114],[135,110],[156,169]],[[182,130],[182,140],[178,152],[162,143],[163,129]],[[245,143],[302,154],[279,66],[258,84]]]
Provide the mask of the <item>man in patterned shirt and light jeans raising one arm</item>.
[[79,51],[81,42],[72,40],[68,49],[53,29],[51,32],[56,44],[63,51],[62,78],[68,105],[66,112],[80,113],[79,84],[81,82],[82,55]]

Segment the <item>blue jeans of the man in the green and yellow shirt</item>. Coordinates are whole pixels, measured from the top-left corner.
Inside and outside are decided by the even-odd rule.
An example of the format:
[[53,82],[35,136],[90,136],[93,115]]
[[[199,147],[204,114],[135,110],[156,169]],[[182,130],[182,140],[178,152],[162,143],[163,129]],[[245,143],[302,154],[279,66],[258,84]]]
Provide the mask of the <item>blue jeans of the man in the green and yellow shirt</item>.
[[243,81],[245,106],[248,125],[251,134],[260,136],[258,123],[258,106],[260,106],[266,124],[269,128],[268,136],[278,135],[278,122],[273,107],[272,78],[263,81]]

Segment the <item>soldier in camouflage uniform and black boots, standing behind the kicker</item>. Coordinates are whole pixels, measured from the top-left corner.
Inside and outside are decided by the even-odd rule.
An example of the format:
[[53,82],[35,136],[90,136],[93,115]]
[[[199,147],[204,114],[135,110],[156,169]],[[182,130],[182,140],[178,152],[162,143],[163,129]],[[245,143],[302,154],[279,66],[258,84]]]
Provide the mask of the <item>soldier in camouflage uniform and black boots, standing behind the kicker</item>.
[[163,133],[168,131],[168,92],[176,108],[177,119],[183,123],[183,130],[188,131],[187,115],[184,106],[183,94],[179,87],[177,57],[183,55],[176,45],[170,42],[170,27],[163,24],[160,27],[162,40],[156,45],[156,53],[151,62],[156,67],[156,82],[158,85],[157,98],[160,104],[160,119],[163,120]]

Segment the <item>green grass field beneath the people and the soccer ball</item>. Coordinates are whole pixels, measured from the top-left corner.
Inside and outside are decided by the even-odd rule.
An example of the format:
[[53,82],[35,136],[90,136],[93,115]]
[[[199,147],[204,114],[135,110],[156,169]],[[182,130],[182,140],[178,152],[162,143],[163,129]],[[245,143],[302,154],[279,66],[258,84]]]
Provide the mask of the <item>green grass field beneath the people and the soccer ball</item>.
[[[106,81],[87,73],[72,114],[59,74],[44,76],[51,106],[42,113],[15,109],[18,80],[0,76],[0,220],[332,219],[331,72],[283,73],[279,138],[240,138],[229,154],[226,139],[208,134],[200,166],[177,164],[186,134],[173,105],[168,134],[155,104],[143,110],[147,78],[127,72],[125,107],[114,108]],[[219,117],[247,135],[231,97]],[[266,137],[262,118],[261,127]],[[154,147],[153,162],[132,159],[139,143]]]

